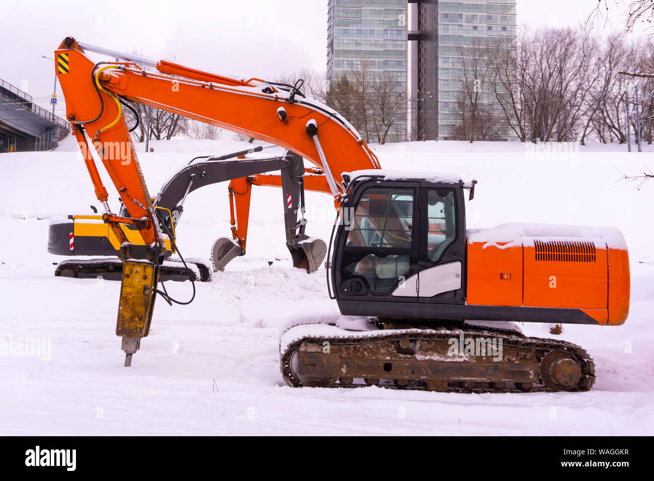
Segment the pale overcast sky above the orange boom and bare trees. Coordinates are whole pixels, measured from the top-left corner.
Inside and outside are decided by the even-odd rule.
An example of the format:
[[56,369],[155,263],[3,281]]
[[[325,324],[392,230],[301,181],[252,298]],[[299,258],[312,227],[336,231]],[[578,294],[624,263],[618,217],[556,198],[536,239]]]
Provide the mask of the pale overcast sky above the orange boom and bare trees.
[[[595,6],[596,0],[518,0],[518,22],[574,25]],[[3,2],[0,22],[0,79],[26,89],[43,107],[52,95],[54,62],[41,56],[52,57],[67,35],[245,77],[271,78],[301,66],[324,69],[326,63],[327,0],[11,0]],[[613,26],[621,22],[616,14]],[[56,113],[65,115],[63,105]]]

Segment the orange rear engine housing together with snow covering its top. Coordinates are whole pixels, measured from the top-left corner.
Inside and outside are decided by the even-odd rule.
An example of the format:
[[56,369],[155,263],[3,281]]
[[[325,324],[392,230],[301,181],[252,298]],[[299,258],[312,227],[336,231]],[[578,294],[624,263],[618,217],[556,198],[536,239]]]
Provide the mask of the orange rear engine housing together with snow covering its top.
[[502,224],[467,237],[467,304],[574,308],[600,325],[627,319],[629,259],[616,228]]

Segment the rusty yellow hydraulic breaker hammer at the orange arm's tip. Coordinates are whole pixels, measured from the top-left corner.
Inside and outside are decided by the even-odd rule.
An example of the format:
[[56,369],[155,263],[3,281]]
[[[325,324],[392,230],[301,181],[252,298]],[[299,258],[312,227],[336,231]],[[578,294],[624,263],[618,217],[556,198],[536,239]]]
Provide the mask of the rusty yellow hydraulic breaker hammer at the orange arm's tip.
[[122,337],[126,367],[131,366],[131,355],[139,350],[141,338],[150,332],[158,277],[155,262],[123,260],[116,336]]

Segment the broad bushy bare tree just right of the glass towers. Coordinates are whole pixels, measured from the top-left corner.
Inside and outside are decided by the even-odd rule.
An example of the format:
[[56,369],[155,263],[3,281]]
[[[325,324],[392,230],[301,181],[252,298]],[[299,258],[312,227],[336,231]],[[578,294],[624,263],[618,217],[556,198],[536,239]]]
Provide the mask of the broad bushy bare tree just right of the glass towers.
[[525,29],[511,54],[496,57],[494,94],[523,141],[572,141],[594,108],[598,38],[587,26]]

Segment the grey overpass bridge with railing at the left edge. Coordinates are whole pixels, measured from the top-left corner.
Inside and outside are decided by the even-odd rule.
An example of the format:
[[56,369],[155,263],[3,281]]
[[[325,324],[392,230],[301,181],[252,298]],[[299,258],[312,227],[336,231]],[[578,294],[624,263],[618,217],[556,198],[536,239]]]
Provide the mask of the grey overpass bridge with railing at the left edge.
[[67,120],[0,79],[0,153],[54,149],[70,130]]

